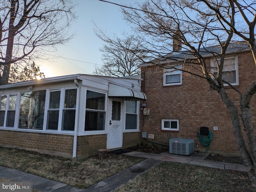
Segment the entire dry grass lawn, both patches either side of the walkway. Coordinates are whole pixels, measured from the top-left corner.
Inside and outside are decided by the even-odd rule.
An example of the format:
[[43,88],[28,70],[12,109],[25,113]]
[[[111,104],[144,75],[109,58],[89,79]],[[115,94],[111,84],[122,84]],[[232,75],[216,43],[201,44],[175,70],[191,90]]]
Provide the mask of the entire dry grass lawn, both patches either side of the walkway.
[[[49,156],[37,152],[0,147],[0,165],[30,172],[87,188],[140,161],[125,155],[109,154],[105,160],[97,157],[82,161]],[[0,180],[1,181],[1,180]],[[246,173],[162,162],[120,186],[114,192],[256,192]]]

